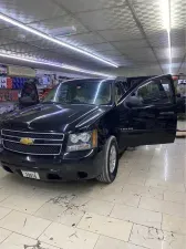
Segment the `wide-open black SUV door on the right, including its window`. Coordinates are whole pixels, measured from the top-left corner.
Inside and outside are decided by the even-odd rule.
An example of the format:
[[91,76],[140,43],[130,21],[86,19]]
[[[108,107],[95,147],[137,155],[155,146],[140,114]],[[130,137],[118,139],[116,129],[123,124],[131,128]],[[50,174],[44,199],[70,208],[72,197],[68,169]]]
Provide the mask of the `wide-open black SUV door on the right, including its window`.
[[117,105],[120,145],[173,143],[177,113],[170,75],[153,77],[133,87]]

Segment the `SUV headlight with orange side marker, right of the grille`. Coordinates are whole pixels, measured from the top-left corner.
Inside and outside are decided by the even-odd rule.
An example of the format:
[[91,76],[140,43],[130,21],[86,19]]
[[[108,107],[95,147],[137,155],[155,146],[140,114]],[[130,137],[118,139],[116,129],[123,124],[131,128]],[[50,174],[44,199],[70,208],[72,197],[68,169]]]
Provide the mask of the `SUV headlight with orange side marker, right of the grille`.
[[97,131],[70,134],[68,152],[85,151],[97,146]]

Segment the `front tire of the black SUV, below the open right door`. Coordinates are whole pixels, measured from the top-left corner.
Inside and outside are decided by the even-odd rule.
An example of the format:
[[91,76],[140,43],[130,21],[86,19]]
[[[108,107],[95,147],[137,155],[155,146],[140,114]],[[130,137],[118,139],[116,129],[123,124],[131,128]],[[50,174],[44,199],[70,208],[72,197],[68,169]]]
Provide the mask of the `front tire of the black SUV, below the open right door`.
[[[110,159],[111,159],[111,155],[113,155],[114,149],[115,149],[115,166],[113,164],[113,167],[111,167]],[[111,136],[106,141],[106,144],[104,145],[103,154],[104,154],[104,159],[103,159],[102,173],[100,176],[96,177],[96,179],[101,183],[111,184],[114,181],[117,175],[117,168],[118,168],[118,146],[117,146],[117,141],[115,136]]]

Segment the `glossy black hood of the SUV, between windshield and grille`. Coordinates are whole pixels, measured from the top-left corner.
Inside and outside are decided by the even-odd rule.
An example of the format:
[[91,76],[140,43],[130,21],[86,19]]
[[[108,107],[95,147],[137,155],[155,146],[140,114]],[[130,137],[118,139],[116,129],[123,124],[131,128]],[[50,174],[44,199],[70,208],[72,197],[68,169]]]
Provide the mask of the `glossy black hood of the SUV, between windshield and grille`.
[[68,132],[90,126],[111,107],[39,104],[7,115],[2,127],[18,131]]

